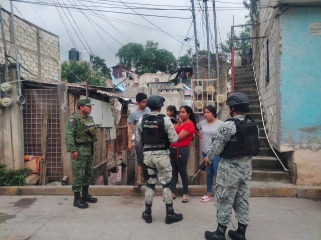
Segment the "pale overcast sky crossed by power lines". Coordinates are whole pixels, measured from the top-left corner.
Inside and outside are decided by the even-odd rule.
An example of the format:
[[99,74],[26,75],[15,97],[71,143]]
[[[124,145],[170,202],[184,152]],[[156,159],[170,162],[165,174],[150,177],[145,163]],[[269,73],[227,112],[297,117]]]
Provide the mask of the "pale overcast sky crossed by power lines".
[[[34,2],[39,2],[38,0],[30,0]],[[45,2],[53,3],[57,0],[42,0]],[[115,1],[115,2],[114,2]],[[87,10],[84,11],[85,13],[88,13],[88,17],[91,18],[93,21],[91,21],[84,15],[82,12],[78,9],[69,9],[71,15],[73,16],[75,22],[77,23],[82,35],[84,36],[85,40],[82,38],[77,26],[75,25],[72,17],[70,16],[70,13],[66,8],[63,8],[65,13],[59,8],[59,11],[61,15],[64,17],[64,20],[66,21],[68,28],[71,32],[71,35],[73,39],[76,42],[76,45],[79,50],[87,49],[89,52],[93,52],[95,55],[99,55],[100,57],[104,58],[106,60],[107,66],[113,66],[118,63],[118,59],[115,57],[114,53],[117,52],[117,50],[121,47],[121,44],[126,44],[128,42],[137,42],[145,44],[146,40],[153,40],[155,42],[159,42],[159,48],[165,48],[170,50],[174,53],[174,55],[177,57],[179,55],[179,52],[182,47],[182,42],[185,36],[187,35],[187,32],[190,28],[190,25],[192,23],[192,18],[189,18],[192,16],[191,11],[189,10],[151,10],[151,9],[135,9],[136,12],[139,14],[149,14],[149,15],[162,15],[162,16],[175,16],[175,17],[186,17],[188,19],[179,19],[179,18],[166,18],[166,17],[156,17],[156,16],[143,16],[147,20],[149,20],[151,23],[156,25],[157,27],[161,28],[162,30],[168,32],[171,36],[175,37],[176,39],[172,38],[170,35],[161,32],[161,31],[150,31],[146,29],[137,28],[134,26],[130,26],[127,24],[135,23],[140,24],[143,26],[156,28],[156,26],[149,23],[146,19],[142,18],[141,16],[135,14],[135,12],[127,6],[125,6],[123,3],[121,3],[119,0],[111,0],[111,1],[105,1],[105,0],[92,0],[90,2],[89,0],[59,0],[60,4],[74,4],[75,3],[84,9],[92,9],[94,10]],[[135,6],[135,7],[150,7],[150,8],[170,8],[170,9],[186,9],[189,8],[192,4],[190,0],[122,0],[123,2],[132,2],[132,3],[146,3],[146,4],[159,4],[159,5],[174,5],[172,6],[151,6],[151,5],[140,5],[140,4],[130,4],[125,3],[129,6]],[[218,19],[218,27],[220,31],[220,35],[218,36],[219,43],[221,40],[224,42],[226,41],[226,33],[231,31],[231,25],[232,25],[232,17],[234,15],[234,24],[243,24],[245,22],[244,16],[248,14],[248,11],[243,7],[242,0],[221,0],[223,2],[216,2],[217,7],[217,19]],[[109,3],[109,4],[104,4]],[[1,2],[2,6],[10,11],[10,1],[9,0],[2,0]],[[114,5],[111,5],[114,4]],[[195,7],[196,7],[196,13],[197,13],[197,31],[198,31],[198,37],[200,41],[200,48],[201,49],[207,49],[207,45],[205,42],[204,37],[206,37],[206,29],[204,27],[203,21],[202,21],[202,11],[200,10],[200,5],[202,8],[204,7],[203,1],[195,0]],[[68,50],[70,48],[74,47],[70,36],[67,33],[67,30],[63,24],[63,21],[58,14],[58,11],[55,6],[46,6],[46,5],[37,5],[37,4],[31,4],[31,3],[24,3],[24,2],[14,2],[14,5],[19,9],[19,11],[23,14],[23,16],[14,8],[14,12],[16,15],[19,15],[21,17],[24,17],[26,20],[33,22],[34,24],[48,29],[49,31],[57,34],[60,36],[60,59],[67,60],[68,59]],[[85,6],[84,6],[85,5]],[[118,6],[117,6],[118,5]],[[178,7],[178,6],[187,6],[187,7]],[[213,33],[213,39],[214,39],[214,25],[213,25],[213,8],[212,8],[212,1],[208,1],[209,6],[209,19],[210,19],[210,26],[211,31]],[[88,8],[87,8],[88,7]],[[123,8],[111,8],[111,7],[123,7]],[[228,7],[228,10],[220,10],[221,7]],[[236,7],[237,10],[232,10],[231,7]],[[123,13],[114,13],[114,12],[104,12],[104,11],[97,11],[99,10],[108,10],[108,11],[118,11],[118,12],[127,12],[127,13],[134,13],[134,14],[123,14]],[[203,8],[204,9],[204,8]],[[224,8],[223,8],[224,9]],[[96,10],[96,11],[95,11]],[[38,14],[37,14],[38,13]],[[97,16],[97,14],[100,14],[101,17],[107,17],[110,20],[110,23],[118,30],[116,30],[112,25],[110,25],[107,20],[102,19],[101,17]],[[91,14],[91,15],[89,15]],[[68,16],[68,18],[66,17]],[[120,20],[117,20],[115,18],[118,18]],[[70,22],[72,23],[72,26],[77,31],[79,37],[75,33],[73,27],[71,26]],[[121,20],[128,21],[130,23],[123,22]],[[118,22],[116,22],[118,21]],[[96,22],[96,23],[94,23]],[[119,23],[123,22],[123,23]],[[204,20],[205,22],[205,20]],[[139,26],[140,27],[140,26]],[[144,28],[144,27],[142,27]],[[98,33],[101,37],[98,35]],[[110,35],[112,35],[115,39],[113,39],[111,36],[109,36],[106,32],[108,32]],[[121,33],[123,34],[121,34]],[[171,33],[180,35],[173,35]],[[124,34],[126,36],[124,36]],[[194,28],[193,25],[188,33],[188,37],[192,38],[194,35]],[[128,36],[128,38],[127,38]],[[130,38],[130,39],[129,39]],[[105,42],[104,42],[105,41]],[[205,45],[204,45],[205,43]],[[83,45],[84,44],[84,45]],[[109,47],[111,50],[109,49]],[[189,44],[194,48],[194,38],[190,42],[185,42],[186,46],[184,46],[181,55],[186,53],[186,50],[189,48]],[[214,44],[214,40],[213,40]],[[211,42],[211,48],[212,48],[212,42]],[[113,53],[114,52],[114,53]],[[213,52],[213,50],[212,50]]]

